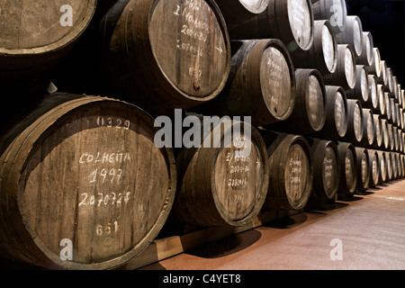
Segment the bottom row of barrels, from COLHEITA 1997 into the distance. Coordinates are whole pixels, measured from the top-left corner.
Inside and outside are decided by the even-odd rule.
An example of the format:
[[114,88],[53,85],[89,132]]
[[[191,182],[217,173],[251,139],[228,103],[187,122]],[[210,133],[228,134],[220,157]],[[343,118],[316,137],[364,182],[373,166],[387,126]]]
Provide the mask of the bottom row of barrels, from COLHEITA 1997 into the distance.
[[[0,251],[35,266],[111,269],[167,220],[243,226],[261,211],[303,210],[405,176],[399,152],[229,119],[193,148],[157,148],[154,118],[112,98],[52,94],[25,112],[2,130]],[[204,147],[216,136],[220,146]]]

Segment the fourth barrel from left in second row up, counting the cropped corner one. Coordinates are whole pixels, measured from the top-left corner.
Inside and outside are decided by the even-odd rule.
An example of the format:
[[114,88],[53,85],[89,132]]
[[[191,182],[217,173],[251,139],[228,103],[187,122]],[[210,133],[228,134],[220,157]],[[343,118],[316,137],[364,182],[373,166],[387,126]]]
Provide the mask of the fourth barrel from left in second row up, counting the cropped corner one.
[[291,116],[268,128],[299,135],[318,132],[326,121],[326,90],[322,76],[315,69],[296,69],[295,79],[295,105]]

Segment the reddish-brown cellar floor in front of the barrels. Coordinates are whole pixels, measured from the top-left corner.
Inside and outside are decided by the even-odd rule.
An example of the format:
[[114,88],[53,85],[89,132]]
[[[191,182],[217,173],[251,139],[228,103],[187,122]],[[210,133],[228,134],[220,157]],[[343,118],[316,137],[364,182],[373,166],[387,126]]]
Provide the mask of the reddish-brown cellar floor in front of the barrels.
[[170,257],[144,270],[405,269],[405,180]]

